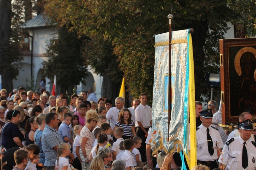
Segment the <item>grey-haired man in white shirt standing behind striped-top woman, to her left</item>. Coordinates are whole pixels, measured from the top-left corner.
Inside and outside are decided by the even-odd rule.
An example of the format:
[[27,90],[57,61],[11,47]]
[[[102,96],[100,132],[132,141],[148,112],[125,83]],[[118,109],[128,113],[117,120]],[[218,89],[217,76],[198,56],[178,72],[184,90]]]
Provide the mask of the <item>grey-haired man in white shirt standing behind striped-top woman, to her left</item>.
[[124,98],[122,97],[117,97],[115,99],[115,105],[116,107],[111,107],[108,111],[108,113],[106,114],[106,118],[108,120],[110,120],[110,126],[111,129],[113,130],[115,127],[115,124],[117,122],[119,113],[122,111],[122,109],[124,108]]

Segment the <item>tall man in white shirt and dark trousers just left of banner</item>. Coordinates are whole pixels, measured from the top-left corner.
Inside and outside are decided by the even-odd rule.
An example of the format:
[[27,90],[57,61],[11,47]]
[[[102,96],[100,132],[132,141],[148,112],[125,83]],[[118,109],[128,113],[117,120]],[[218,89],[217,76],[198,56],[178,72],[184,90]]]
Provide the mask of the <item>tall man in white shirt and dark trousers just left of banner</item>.
[[[142,162],[146,162],[146,136],[148,129],[152,126],[152,110],[151,107],[146,105],[147,94],[142,93],[140,95],[140,105],[135,109],[135,126],[136,134],[142,140],[141,147],[139,148]],[[145,136],[146,135],[146,136]]]

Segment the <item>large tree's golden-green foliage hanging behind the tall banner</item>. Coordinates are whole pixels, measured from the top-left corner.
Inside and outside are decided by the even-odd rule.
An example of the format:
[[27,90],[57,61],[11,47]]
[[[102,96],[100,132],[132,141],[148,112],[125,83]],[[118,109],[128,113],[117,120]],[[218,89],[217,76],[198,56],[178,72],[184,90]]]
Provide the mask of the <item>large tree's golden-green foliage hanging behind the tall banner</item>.
[[[75,30],[79,35],[98,36],[111,44],[113,54],[118,57],[113,60],[124,72],[130,94],[137,98],[141,92],[147,92],[150,102],[155,63],[153,35],[168,32],[167,15],[171,13],[171,6],[173,31],[188,28],[195,30],[192,38],[196,100],[202,100],[201,94],[209,93],[208,88],[204,87],[208,70],[219,72],[218,39],[223,38],[228,29],[226,22],[232,16],[227,1],[223,0],[48,0],[46,4],[46,13],[60,27],[71,23],[71,31]],[[100,61],[97,54],[101,51],[97,48],[93,50],[95,55],[92,57]],[[105,60],[111,60],[111,56]],[[100,68],[103,65],[90,64],[98,73],[102,73]]]

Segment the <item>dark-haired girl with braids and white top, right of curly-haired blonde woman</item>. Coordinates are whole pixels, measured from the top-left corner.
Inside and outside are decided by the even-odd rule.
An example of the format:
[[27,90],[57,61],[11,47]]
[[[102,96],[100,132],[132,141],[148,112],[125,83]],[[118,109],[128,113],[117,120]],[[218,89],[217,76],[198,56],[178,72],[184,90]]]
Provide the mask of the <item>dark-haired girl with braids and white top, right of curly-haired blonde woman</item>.
[[98,137],[98,144],[96,147],[93,147],[93,149],[91,149],[91,153],[89,156],[89,161],[91,162],[93,160],[93,158],[95,158],[97,156],[98,150],[104,148],[104,146],[108,143],[108,136],[104,133],[99,134]]

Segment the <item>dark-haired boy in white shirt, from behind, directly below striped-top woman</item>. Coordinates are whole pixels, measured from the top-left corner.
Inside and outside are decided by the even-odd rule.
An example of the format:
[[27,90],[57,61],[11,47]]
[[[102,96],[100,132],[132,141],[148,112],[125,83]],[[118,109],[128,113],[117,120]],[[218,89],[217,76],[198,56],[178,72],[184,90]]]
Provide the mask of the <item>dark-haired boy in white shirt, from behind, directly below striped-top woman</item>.
[[120,159],[123,159],[126,163],[126,170],[132,170],[134,168],[134,159],[132,157],[131,151],[134,148],[134,141],[133,139],[125,139],[124,140],[124,148],[125,152],[121,156]]

